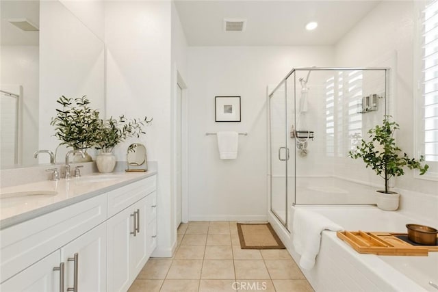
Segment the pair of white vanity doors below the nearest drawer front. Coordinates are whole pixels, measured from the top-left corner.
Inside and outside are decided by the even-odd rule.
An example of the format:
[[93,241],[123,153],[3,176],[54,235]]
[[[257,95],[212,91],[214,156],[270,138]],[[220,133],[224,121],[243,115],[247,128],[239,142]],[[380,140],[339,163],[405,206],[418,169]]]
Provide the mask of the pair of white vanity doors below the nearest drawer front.
[[93,228],[5,281],[0,290],[106,291],[106,231],[104,223]]

